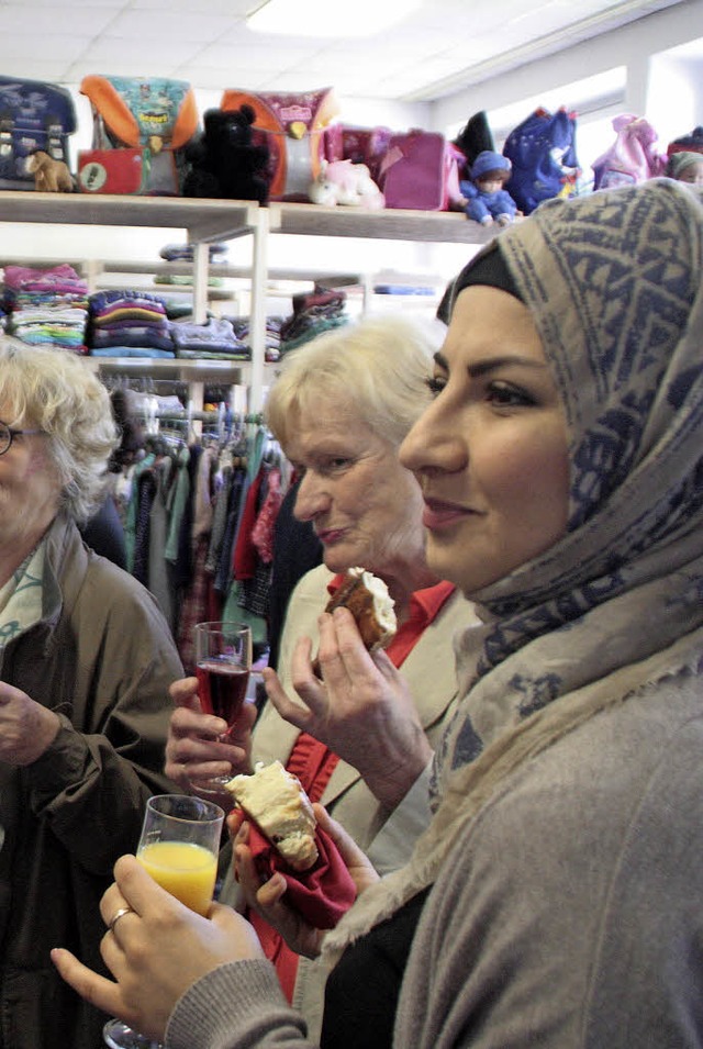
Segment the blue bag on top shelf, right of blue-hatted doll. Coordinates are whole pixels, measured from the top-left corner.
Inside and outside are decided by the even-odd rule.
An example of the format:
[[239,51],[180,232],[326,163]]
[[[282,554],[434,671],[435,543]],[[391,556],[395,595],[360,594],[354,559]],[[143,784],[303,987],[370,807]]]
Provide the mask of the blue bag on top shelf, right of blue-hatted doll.
[[569,196],[580,175],[574,114],[535,110],[511,131],[503,156],[513,166],[507,191],[524,215],[543,200]]

